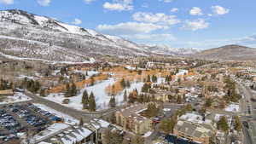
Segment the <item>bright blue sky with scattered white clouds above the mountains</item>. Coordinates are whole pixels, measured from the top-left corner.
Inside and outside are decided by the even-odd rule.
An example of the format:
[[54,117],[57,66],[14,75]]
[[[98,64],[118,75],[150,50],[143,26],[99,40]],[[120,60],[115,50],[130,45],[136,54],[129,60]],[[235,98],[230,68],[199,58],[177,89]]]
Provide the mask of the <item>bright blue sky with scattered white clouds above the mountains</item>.
[[137,43],[209,49],[256,48],[255,0],[0,0],[22,9]]

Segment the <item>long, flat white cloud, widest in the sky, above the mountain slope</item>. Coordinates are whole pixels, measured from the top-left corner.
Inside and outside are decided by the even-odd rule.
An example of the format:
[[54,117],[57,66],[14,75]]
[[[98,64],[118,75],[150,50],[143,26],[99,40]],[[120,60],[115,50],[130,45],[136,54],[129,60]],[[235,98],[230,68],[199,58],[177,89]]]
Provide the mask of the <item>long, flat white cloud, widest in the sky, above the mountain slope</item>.
[[165,26],[159,26],[148,23],[125,22],[117,25],[99,25],[96,30],[110,35],[132,35],[149,33],[159,29],[165,29]]

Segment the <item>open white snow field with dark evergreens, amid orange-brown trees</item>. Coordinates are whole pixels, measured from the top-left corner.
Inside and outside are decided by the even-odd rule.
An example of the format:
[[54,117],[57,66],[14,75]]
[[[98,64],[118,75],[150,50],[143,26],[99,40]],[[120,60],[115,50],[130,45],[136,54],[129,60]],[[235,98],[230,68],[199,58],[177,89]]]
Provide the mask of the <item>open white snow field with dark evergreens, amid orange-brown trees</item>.
[[[55,101],[66,107],[72,107],[74,109],[82,110],[83,109],[83,105],[81,103],[82,95],[84,93],[84,90],[86,89],[89,95],[90,95],[90,92],[93,92],[93,94],[95,95],[97,110],[107,109],[108,102],[111,97],[108,96],[108,94],[105,92],[105,88],[108,87],[108,85],[114,84],[114,83],[115,83],[114,78],[108,78],[108,80],[104,80],[101,83],[81,89],[79,95],[69,98],[70,100],[69,104],[62,104],[62,101],[66,99],[64,94],[50,94],[47,97],[45,97],[45,99],[49,101]],[[131,84],[131,88],[126,89],[127,94],[131,92],[133,89],[137,89],[138,92],[140,93],[142,87],[143,87],[143,82],[133,83]],[[122,92],[120,92],[119,95],[115,96],[117,105],[121,105],[123,103],[124,93],[125,93],[125,89]]]

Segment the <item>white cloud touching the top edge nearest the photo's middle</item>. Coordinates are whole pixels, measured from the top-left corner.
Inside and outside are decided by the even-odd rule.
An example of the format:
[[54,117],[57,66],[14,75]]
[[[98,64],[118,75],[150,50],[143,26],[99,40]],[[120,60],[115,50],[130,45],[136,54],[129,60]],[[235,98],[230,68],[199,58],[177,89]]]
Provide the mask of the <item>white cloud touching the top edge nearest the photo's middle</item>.
[[117,11],[132,10],[132,2],[132,0],[113,0],[113,3],[104,3],[103,8]]

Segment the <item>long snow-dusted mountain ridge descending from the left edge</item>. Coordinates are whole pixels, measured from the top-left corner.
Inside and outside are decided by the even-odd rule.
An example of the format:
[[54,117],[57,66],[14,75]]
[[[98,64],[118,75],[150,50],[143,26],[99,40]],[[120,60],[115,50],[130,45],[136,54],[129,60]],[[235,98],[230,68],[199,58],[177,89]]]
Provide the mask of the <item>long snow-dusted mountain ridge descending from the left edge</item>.
[[0,30],[0,55],[9,58],[84,61],[99,55],[179,54],[166,47],[133,43],[18,9],[0,11]]

